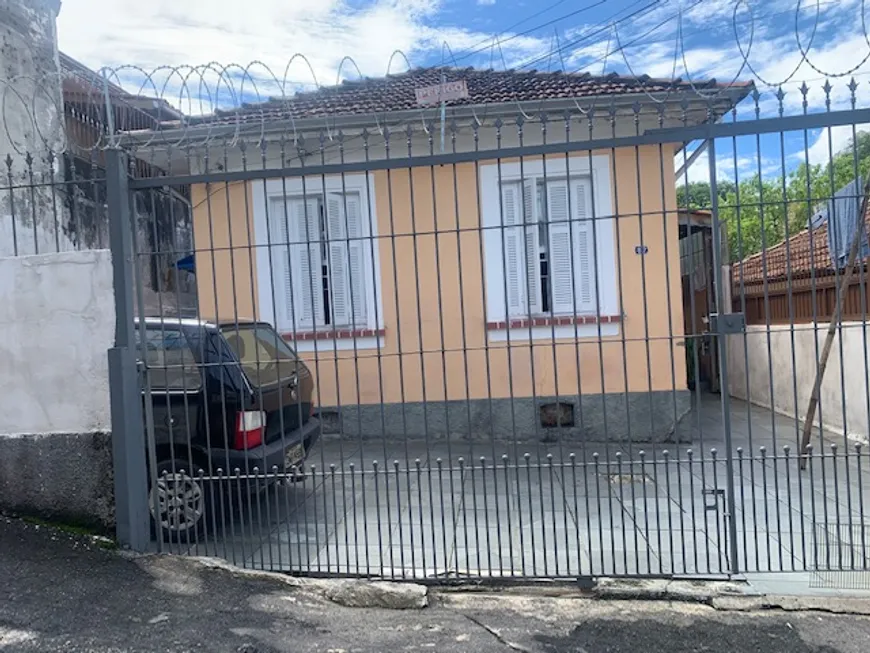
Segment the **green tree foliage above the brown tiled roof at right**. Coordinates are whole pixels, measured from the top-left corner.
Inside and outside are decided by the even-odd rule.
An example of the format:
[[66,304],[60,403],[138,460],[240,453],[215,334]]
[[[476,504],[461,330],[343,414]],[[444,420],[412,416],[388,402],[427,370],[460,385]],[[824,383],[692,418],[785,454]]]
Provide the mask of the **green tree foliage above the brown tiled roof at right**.
[[[854,143],[823,165],[801,163],[783,179],[758,174],[738,185],[724,181],[719,188],[719,217],[728,232],[731,260],[736,262],[782,242],[807,228],[816,209],[855,178],[855,170],[870,174],[870,132],[859,132]],[[696,182],[677,189],[680,208],[709,208],[710,185]],[[787,230],[786,230],[787,227]]]

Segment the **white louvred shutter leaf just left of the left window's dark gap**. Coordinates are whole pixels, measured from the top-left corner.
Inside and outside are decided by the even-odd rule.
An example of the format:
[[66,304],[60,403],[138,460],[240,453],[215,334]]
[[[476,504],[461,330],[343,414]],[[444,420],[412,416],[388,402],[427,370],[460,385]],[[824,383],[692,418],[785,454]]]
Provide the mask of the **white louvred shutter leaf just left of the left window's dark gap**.
[[316,199],[291,200],[290,264],[293,266],[293,304],[297,324],[321,326],[323,282],[320,256],[320,207]]

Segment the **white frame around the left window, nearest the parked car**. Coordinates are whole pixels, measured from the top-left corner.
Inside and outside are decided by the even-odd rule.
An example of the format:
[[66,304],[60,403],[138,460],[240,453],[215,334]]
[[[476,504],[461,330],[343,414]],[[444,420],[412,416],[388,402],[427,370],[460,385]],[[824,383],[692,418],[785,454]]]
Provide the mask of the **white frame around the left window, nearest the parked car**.
[[[381,292],[381,267],[378,241],[377,208],[373,175],[348,174],[317,176],[305,178],[268,179],[252,182],[251,193],[254,199],[254,238],[257,245],[257,294],[259,315],[269,321],[281,334],[296,339],[294,349],[298,352],[329,349],[371,349],[383,346],[384,330],[383,302]],[[265,186],[265,187],[264,187]],[[363,270],[365,319],[353,327],[349,325],[308,326],[300,324],[299,317],[288,320],[281,315],[279,293],[284,285],[281,275],[277,274],[274,261],[281,245],[276,244],[272,221],[284,219],[284,214],[274,215],[273,202],[292,199],[318,198],[326,203],[330,194],[356,194],[359,197],[361,241],[363,243]],[[295,242],[292,239],[290,242]],[[371,245],[369,245],[371,243]],[[270,251],[271,250],[271,251]],[[286,290],[289,299],[290,291]],[[278,301],[276,301],[276,299]],[[376,303],[377,302],[377,303]],[[349,308],[348,308],[349,310]],[[295,324],[293,323],[295,322]],[[322,337],[321,334],[335,331],[336,337]],[[340,333],[339,333],[340,332]],[[367,335],[359,335],[365,333]],[[368,335],[374,333],[375,335]],[[300,336],[302,336],[300,338]],[[316,337],[310,337],[316,336]]]

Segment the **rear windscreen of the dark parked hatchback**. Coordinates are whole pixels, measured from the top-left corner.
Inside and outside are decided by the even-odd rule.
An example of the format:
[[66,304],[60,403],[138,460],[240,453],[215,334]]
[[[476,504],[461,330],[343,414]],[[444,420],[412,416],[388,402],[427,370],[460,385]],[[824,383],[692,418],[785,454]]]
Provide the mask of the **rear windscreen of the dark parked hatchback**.
[[296,374],[296,353],[272,327],[228,325],[221,327],[221,333],[251,385],[268,386]]

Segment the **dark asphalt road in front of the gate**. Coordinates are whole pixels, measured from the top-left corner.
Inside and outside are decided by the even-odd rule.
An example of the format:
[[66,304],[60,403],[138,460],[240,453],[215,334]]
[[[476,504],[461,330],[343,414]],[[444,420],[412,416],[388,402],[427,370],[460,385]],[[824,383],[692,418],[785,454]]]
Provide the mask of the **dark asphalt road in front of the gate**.
[[870,619],[701,605],[450,594],[335,605],[270,578],[0,519],[0,651],[864,653]]

